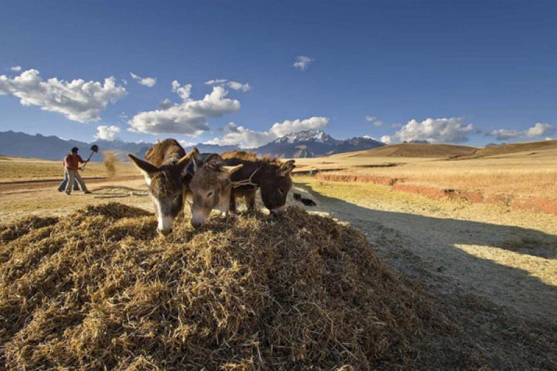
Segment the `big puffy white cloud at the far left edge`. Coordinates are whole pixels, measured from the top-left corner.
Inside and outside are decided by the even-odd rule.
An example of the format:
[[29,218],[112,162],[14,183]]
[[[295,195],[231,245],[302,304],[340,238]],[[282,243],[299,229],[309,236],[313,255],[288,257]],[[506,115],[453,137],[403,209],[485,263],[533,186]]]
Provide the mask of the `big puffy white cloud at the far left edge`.
[[100,120],[100,112],[107,104],[114,103],[124,95],[123,86],[116,86],[113,77],[99,81],[58,80],[44,81],[38,70],[26,70],[19,76],[0,76],[0,95],[11,94],[24,106],[40,106],[43,111],[58,112],[70,120],[86,123]]

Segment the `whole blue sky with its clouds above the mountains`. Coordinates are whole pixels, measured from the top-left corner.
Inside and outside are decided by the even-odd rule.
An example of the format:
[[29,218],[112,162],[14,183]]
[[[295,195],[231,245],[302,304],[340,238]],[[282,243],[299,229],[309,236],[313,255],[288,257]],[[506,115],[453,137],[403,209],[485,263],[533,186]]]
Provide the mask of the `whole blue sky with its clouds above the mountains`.
[[[557,136],[555,1],[18,0],[2,8],[0,130],[244,146],[308,128],[392,143]],[[299,56],[311,60],[304,69],[293,65]],[[205,84],[214,79],[227,81]]]

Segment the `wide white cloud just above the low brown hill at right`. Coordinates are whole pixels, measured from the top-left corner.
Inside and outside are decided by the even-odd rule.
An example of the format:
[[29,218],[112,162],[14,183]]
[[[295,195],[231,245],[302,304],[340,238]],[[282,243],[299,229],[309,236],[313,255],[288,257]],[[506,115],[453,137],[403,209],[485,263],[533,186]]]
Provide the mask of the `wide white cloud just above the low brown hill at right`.
[[410,120],[395,132],[395,138],[400,141],[429,141],[446,143],[464,143],[473,130],[473,125],[465,125],[462,118],[427,118],[421,123]]

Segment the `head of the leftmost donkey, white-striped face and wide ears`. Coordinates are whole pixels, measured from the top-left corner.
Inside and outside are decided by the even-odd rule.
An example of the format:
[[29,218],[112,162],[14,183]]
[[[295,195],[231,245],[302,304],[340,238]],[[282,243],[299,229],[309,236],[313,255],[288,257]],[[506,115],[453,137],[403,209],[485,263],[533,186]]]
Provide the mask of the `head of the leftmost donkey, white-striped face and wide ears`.
[[149,194],[155,204],[155,214],[157,214],[157,221],[159,222],[157,231],[162,235],[168,235],[172,232],[174,219],[184,207],[182,178],[187,173],[191,156],[197,152],[197,148],[194,148],[174,164],[166,164],[160,167],[128,154],[143,173],[149,186]]

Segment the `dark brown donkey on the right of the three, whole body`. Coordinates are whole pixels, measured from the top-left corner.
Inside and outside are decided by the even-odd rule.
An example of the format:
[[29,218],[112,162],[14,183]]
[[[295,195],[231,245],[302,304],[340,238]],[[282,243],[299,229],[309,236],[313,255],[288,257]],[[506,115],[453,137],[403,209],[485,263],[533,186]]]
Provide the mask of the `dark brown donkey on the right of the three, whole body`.
[[[244,165],[233,173],[233,182],[249,182],[233,189],[230,196],[230,211],[236,210],[236,197],[244,197],[248,210],[256,207],[256,190],[261,191],[261,200],[271,214],[281,215],[286,211],[286,196],[292,187],[290,172],[295,168],[295,161],[281,162],[276,158],[258,158],[253,152],[224,152],[222,157],[228,166]],[[251,179],[251,180],[250,180]]]

